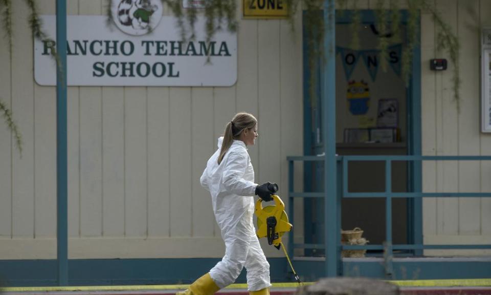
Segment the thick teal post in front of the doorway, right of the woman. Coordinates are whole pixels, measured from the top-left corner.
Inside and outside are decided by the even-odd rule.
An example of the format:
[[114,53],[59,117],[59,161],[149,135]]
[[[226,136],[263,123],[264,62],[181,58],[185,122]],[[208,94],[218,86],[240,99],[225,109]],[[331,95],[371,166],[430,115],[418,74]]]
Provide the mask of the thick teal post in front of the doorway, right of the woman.
[[324,1],[324,212],[325,212],[325,274],[338,275],[337,241],[340,237],[337,217],[336,176],[336,8],[334,0]]

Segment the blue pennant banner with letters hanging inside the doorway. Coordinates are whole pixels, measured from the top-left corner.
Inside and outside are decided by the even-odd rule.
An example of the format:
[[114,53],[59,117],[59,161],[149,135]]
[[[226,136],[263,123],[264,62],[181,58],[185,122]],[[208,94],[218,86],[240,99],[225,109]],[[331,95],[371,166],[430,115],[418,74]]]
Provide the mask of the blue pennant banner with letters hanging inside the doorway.
[[[384,58],[389,62],[390,67],[400,77],[401,74],[401,54],[402,45],[397,44],[387,48],[388,55]],[[336,54],[341,54],[341,60],[343,63],[344,74],[346,80],[349,80],[351,74],[358,64],[358,61],[363,59],[365,67],[367,68],[372,81],[375,81],[378,67],[380,66],[381,56],[380,50],[352,50],[344,47],[336,47]]]

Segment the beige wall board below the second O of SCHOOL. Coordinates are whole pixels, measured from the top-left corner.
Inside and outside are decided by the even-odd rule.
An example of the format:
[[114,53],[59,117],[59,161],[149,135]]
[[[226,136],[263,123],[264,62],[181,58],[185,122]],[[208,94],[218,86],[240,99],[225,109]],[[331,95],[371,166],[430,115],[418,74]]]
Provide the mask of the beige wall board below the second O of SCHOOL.
[[170,234],[169,88],[147,88],[148,236]]

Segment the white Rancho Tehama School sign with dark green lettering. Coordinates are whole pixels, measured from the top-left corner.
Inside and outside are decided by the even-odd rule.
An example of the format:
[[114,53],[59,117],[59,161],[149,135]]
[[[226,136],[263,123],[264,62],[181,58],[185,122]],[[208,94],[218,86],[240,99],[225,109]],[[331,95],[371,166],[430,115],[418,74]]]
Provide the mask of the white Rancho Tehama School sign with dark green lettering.
[[[133,12],[139,17],[125,23],[121,14],[113,15],[118,26],[108,24],[107,16],[67,17],[69,86],[232,86],[236,82],[236,33],[218,32],[206,41],[205,22],[199,18],[196,37],[183,41],[172,16],[151,23],[148,16]],[[39,85],[54,86],[56,61],[51,53],[56,48],[56,18],[45,15],[42,21],[49,37],[34,41],[34,77]]]

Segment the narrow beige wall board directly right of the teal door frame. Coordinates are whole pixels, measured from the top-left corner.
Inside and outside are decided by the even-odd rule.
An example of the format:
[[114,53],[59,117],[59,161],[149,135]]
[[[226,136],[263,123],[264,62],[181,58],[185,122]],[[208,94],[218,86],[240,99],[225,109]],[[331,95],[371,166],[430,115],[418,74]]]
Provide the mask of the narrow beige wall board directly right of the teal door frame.
[[[428,61],[435,56],[435,24],[430,14],[421,15],[421,142],[422,154],[436,155],[435,72]],[[422,163],[423,192],[436,192],[436,162]],[[436,234],[436,198],[423,198],[423,235]]]

